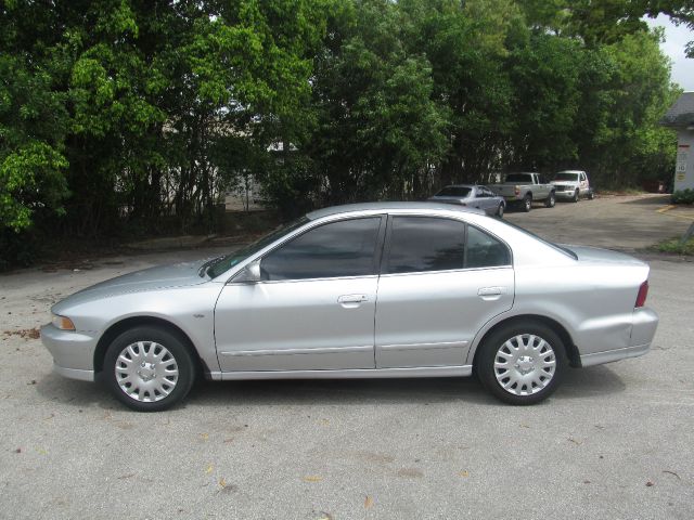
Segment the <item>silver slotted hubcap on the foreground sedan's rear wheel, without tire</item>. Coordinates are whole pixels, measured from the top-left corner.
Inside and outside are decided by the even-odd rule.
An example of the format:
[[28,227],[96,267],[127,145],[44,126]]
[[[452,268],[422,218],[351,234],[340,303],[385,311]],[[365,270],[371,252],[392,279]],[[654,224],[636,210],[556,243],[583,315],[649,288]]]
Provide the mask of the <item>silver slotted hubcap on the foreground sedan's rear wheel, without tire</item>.
[[494,376],[506,392],[531,395],[554,377],[556,355],[540,336],[522,334],[507,339],[494,356]]

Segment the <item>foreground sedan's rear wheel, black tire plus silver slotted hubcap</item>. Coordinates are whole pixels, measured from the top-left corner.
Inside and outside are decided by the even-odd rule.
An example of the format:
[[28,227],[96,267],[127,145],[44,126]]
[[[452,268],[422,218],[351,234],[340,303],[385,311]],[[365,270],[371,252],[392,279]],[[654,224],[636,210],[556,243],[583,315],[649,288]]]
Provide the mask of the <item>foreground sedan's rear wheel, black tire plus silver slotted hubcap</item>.
[[479,379],[497,399],[510,404],[536,404],[550,396],[568,364],[560,337],[538,322],[503,326],[480,349]]

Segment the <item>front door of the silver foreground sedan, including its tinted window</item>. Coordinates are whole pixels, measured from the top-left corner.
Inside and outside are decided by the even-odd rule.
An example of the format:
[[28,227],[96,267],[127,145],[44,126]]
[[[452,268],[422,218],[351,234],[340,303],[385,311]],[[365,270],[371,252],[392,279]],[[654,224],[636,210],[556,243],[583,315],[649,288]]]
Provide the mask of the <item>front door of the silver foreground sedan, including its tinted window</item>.
[[221,369],[373,368],[384,232],[378,216],[318,225],[265,255],[260,282],[227,284],[215,310]]

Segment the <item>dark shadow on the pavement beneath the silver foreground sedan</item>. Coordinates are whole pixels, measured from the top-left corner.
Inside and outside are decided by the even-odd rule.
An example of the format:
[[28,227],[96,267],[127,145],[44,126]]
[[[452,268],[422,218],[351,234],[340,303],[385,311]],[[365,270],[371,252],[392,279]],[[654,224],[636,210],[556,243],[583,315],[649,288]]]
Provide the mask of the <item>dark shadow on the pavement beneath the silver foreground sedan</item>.
[[[604,366],[570,369],[549,401],[593,399],[617,393],[625,384]],[[37,392],[47,400],[78,408],[119,407],[101,384],[64,379],[47,374],[37,381]],[[234,407],[277,405],[440,404],[453,401],[502,405],[475,377],[412,379],[290,379],[256,381],[207,381],[195,385],[179,406]]]

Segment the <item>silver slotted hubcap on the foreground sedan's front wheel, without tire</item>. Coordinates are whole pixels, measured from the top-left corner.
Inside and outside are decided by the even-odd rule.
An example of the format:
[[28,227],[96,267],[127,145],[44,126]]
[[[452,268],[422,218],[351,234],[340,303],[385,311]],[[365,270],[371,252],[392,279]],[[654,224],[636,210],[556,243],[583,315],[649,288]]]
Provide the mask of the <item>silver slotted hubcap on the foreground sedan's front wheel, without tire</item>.
[[123,349],[115,373],[120,390],[142,403],[160,401],[170,394],[179,375],[174,355],[156,341],[138,341]]

